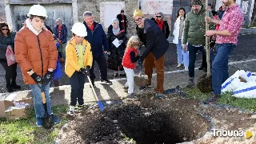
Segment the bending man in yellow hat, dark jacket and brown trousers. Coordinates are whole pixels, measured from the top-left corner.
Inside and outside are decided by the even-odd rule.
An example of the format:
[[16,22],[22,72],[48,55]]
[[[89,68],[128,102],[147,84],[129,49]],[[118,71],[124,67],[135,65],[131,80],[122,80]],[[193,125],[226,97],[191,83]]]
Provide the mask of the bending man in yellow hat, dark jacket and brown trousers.
[[146,41],[145,39],[141,40],[146,42],[146,49],[138,60],[139,63],[142,63],[142,60],[145,59],[145,74],[149,78],[149,83],[143,89],[151,87],[152,73],[155,67],[157,70],[157,88],[154,91],[157,92],[156,96],[161,98],[164,91],[165,53],[169,47],[169,42],[154,21],[144,18],[141,10],[134,10],[134,22],[138,28],[143,29],[144,36],[142,37],[146,38]]

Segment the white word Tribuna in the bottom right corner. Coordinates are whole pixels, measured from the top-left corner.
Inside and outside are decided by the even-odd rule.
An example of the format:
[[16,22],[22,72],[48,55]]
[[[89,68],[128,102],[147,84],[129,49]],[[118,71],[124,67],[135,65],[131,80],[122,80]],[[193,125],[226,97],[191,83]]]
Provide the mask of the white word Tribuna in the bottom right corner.
[[214,131],[214,137],[244,137],[245,132],[243,130],[223,130],[212,129]]

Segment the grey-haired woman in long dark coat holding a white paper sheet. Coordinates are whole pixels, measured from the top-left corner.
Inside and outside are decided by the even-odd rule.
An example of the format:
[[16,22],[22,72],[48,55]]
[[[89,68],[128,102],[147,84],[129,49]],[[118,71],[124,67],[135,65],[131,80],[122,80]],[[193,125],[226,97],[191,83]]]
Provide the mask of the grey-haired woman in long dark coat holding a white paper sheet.
[[[108,68],[114,70],[114,77],[117,77],[119,72],[120,76],[126,76],[122,67],[122,56],[126,49],[126,33],[125,29],[119,27],[118,18],[112,20],[112,25],[109,26],[107,31],[107,39],[110,45],[110,56],[108,56]],[[112,43],[118,39],[120,44],[118,48]]]

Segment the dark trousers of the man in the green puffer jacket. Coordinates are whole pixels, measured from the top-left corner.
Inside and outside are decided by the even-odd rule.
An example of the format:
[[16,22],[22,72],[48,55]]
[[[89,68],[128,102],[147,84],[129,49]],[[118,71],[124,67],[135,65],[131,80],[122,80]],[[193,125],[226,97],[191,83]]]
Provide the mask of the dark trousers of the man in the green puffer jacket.
[[187,49],[190,51],[189,55],[189,76],[190,78],[194,78],[194,63],[197,57],[198,50],[202,52],[202,61],[206,61],[206,49],[204,46],[195,47],[191,45],[190,43],[187,45]]

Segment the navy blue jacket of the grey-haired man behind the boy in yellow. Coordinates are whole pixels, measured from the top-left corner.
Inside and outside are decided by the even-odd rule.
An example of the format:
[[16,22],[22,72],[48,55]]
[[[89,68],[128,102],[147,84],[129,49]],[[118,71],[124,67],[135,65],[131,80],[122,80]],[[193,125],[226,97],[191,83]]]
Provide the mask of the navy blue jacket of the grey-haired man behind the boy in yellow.
[[[86,25],[86,22],[83,21],[83,24]],[[94,21],[94,30],[91,31],[87,25],[86,29],[87,36],[85,39],[86,41],[89,41],[94,57],[103,56],[104,51],[110,51],[108,41],[106,39],[106,33],[104,32],[101,24]],[[102,45],[104,47],[104,51]]]

